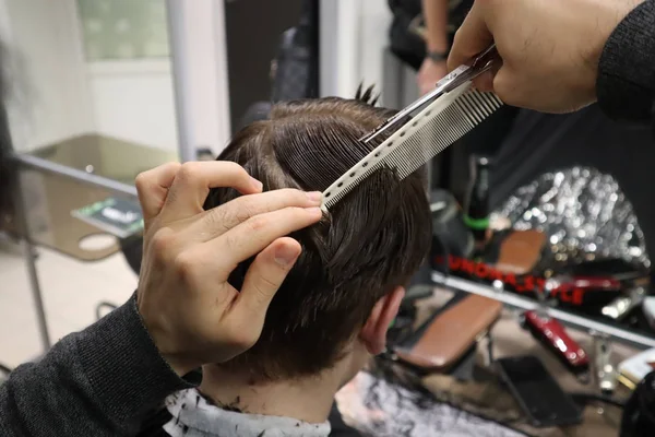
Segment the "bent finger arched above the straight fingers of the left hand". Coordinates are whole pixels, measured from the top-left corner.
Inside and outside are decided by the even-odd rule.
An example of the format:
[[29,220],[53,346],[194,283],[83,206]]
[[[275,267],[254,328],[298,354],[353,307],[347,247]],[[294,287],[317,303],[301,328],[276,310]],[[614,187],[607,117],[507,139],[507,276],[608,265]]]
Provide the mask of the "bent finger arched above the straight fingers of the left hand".
[[230,187],[243,194],[262,191],[262,184],[237,163],[204,161],[184,163],[172,181],[160,218],[169,223],[202,213],[210,189]]

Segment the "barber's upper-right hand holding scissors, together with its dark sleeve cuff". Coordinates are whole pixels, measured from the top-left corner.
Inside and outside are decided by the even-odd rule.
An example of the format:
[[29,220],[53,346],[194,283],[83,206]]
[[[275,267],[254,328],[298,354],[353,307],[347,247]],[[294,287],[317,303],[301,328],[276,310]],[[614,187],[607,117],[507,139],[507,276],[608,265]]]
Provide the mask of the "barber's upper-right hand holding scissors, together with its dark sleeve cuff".
[[653,118],[655,0],[476,1],[449,68],[491,42],[502,66],[476,85],[510,105],[563,113],[599,101],[616,119]]

